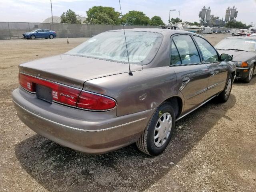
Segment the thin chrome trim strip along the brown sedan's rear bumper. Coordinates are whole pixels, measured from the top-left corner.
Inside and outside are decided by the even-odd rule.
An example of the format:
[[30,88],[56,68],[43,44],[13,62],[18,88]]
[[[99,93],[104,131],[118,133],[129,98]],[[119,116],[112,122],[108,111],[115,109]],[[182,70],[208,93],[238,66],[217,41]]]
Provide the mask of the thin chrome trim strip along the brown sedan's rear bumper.
[[67,125],[64,125],[64,124],[60,124],[60,123],[57,123],[57,122],[55,122],[55,121],[52,121],[52,120],[46,119],[46,118],[44,118],[44,117],[41,117],[41,116],[39,116],[39,115],[37,115],[37,114],[34,114],[34,113],[30,112],[30,111],[27,110],[26,108],[20,106],[20,104],[18,104],[16,101],[14,101],[14,99],[12,99],[12,101],[13,101],[16,105],[18,105],[20,108],[22,108],[23,110],[25,110],[26,112],[28,112],[28,113],[30,113],[30,114],[32,114],[32,115],[34,115],[34,116],[36,116],[36,117],[38,117],[38,118],[40,118],[40,119],[42,119],[42,120],[46,120],[46,121],[51,122],[51,123],[53,123],[53,124],[56,124],[56,125],[58,125],[58,126],[62,126],[62,127],[65,127],[65,128],[69,128],[69,129],[76,130],[76,131],[81,131],[81,132],[101,132],[101,131],[107,131],[107,130],[111,130],[111,129],[123,127],[123,126],[126,126],[126,125],[129,125],[129,124],[132,124],[132,123],[135,123],[135,122],[139,122],[139,121],[142,121],[142,120],[145,120],[145,119],[146,119],[146,117],[144,117],[144,118],[141,118],[141,119],[138,119],[138,120],[134,120],[134,121],[131,121],[131,122],[128,122],[128,123],[124,123],[124,124],[121,124],[121,125],[117,125],[117,126],[113,126],[113,127],[109,127],[109,128],[105,128],[105,129],[97,129],[97,130],[79,129],[79,128],[75,128],[75,127],[67,126]]

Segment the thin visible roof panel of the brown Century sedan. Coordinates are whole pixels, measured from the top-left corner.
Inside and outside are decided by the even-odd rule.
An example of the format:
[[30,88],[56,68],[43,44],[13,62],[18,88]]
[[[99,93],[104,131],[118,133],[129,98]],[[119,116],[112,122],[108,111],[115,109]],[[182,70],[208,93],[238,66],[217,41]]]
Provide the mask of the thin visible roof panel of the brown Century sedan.
[[[188,31],[183,31],[183,30],[171,30],[171,29],[159,29],[159,28],[135,28],[135,29],[124,29],[125,31],[141,31],[141,32],[155,32],[155,33],[160,33],[160,34],[176,34],[176,33],[188,33],[188,34],[195,34],[192,32]],[[110,31],[123,31],[123,29],[118,29],[118,30],[110,30]],[[108,32],[110,32],[108,31]]]

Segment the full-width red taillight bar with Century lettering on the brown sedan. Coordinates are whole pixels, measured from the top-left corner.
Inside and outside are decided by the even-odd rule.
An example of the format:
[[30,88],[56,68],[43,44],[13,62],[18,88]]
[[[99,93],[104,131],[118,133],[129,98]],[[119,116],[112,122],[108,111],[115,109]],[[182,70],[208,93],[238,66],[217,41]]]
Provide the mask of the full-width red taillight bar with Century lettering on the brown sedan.
[[108,96],[82,91],[22,73],[19,74],[19,80],[20,86],[31,93],[36,93],[36,84],[51,88],[52,101],[60,104],[95,111],[111,110],[116,107],[116,101]]

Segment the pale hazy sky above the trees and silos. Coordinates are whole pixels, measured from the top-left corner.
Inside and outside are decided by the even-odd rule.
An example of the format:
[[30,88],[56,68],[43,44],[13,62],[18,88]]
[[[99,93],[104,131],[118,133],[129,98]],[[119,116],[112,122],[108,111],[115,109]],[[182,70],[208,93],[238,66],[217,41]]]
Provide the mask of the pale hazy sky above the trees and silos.
[[[256,26],[256,0],[120,0],[122,13],[129,10],[144,12],[149,18],[160,16],[168,23],[169,10],[172,17],[183,21],[199,21],[199,11],[203,6],[210,6],[211,14],[225,18],[226,8],[236,6],[236,20]],[[52,0],[53,16],[60,16],[68,9],[86,16],[92,6],[110,6],[120,12],[118,0]],[[43,22],[51,16],[50,0],[0,0],[0,22]]]

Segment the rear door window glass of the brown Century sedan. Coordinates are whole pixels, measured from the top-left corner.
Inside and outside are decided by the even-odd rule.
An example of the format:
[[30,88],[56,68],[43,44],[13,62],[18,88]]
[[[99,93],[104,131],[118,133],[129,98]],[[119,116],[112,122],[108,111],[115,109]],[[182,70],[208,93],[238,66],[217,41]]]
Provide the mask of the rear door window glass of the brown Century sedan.
[[174,36],[172,40],[176,45],[182,64],[201,63],[199,53],[189,35]]

